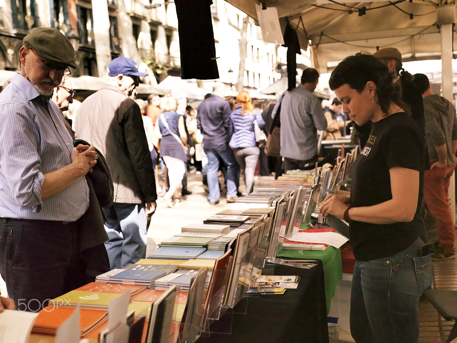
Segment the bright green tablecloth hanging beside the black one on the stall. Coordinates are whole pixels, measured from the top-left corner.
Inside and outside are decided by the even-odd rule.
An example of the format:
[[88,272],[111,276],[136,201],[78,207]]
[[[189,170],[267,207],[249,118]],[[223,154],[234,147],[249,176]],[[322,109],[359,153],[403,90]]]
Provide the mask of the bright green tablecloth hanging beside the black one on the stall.
[[336,284],[343,278],[340,249],[332,246],[327,247],[324,251],[282,249],[276,253],[276,257],[314,258],[322,261],[324,267],[325,299],[327,302],[327,314],[329,314],[330,300],[335,295]]

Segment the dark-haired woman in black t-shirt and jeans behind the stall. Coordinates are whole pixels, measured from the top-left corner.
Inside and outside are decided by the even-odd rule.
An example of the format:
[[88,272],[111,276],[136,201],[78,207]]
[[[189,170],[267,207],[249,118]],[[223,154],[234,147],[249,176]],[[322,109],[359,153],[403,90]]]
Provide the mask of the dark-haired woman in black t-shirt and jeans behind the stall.
[[412,222],[422,200],[423,137],[402,109],[387,66],[372,55],[340,62],[329,86],[357,125],[372,121],[351,196],[329,195],[320,204],[324,217],[350,225],[351,335],[357,343],[417,342],[418,302],[431,283],[430,255]]

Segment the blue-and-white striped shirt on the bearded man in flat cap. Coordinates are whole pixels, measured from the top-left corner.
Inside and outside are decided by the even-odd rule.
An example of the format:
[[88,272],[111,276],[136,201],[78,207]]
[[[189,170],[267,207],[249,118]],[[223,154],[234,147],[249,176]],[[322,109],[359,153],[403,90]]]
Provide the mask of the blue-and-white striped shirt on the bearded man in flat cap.
[[74,221],[89,207],[85,177],[44,200],[44,175],[71,163],[73,140],[57,105],[15,74],[0,94],[0,217]]

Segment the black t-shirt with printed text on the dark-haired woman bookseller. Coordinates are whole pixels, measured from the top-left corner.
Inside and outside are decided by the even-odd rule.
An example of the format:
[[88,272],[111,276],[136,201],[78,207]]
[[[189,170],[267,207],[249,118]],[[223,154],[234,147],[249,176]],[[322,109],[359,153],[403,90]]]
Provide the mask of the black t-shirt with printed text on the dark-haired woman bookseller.
[[[372,206],[392,199],[389,169],[403,167],[420,172],[419,208],[424,184],[423,155],[420,129],[404,112],[372,123],[367,144],[352,169],[351,206]],[[418,236],[413,222],[380,225],[351,220],[350,232],[358,261],[392,256],[409,247]]]

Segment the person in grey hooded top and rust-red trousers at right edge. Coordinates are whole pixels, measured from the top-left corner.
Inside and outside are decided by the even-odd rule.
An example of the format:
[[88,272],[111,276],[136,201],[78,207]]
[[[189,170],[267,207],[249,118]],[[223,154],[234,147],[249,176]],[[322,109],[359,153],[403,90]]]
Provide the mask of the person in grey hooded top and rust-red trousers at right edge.
[[449,207],[449,181],[456,167],[457,118],[454,105],[433,94],[426,75],[415,74],[414,85],[424,99],[425,127],[430,169],[424,174],[424,198],[427,209],[438,221],[438,241],[432,259],[444,260],[455,256],[455,225]]

